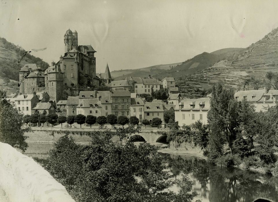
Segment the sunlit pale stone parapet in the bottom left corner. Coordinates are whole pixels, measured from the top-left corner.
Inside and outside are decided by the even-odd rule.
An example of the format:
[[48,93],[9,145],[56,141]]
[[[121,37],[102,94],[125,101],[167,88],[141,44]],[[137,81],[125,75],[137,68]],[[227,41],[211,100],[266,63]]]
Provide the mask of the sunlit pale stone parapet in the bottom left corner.
[[12,202],[74,202],[65,187],[32,158],[1,142],[0,179],[0,187]]

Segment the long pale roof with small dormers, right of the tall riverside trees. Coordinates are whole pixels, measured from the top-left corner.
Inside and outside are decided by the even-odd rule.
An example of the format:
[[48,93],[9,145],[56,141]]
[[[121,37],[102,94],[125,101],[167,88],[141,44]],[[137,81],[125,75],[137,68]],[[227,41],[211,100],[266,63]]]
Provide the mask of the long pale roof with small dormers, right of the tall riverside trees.
[[264,89],[262,90],[247,90],[238,91],[235,93],[234,97],[237,101],[242,101],[244,97],[248,102],[258,102],[264,95]]

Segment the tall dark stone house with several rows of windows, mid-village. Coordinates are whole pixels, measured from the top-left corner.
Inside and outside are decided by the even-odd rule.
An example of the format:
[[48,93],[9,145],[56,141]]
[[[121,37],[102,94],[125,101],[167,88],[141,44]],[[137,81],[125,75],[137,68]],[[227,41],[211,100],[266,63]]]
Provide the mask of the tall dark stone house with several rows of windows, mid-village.
[[112,114],[129,117],[130,92],[129,91],[112,91]]

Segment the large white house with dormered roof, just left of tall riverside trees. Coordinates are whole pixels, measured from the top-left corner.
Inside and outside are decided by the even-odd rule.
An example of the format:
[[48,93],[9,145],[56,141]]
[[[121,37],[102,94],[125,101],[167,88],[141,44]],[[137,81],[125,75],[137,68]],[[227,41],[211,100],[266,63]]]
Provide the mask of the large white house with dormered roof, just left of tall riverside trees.
[[184,99],[176,105],[175,120],[179,126],[191,125],[196,121],[207,124],[207,112],[210,110],[210,98]]

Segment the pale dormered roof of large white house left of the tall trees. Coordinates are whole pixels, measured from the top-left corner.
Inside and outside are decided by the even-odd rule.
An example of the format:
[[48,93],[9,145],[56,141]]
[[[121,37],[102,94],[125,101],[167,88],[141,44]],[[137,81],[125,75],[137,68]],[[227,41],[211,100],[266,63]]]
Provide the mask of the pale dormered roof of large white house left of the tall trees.
[[[179,105],[183,105],[183,108],[181,110],[191,110],[192,105],[195,105],[195,107],[192,110],[200,110],[199,105],[205,105],[202,110],[209,110],[210,109],[210,98],[196,98],[196,99],[184,99],[181,100]],[[179,109],[179,106],[176,106],[176,110]]]

